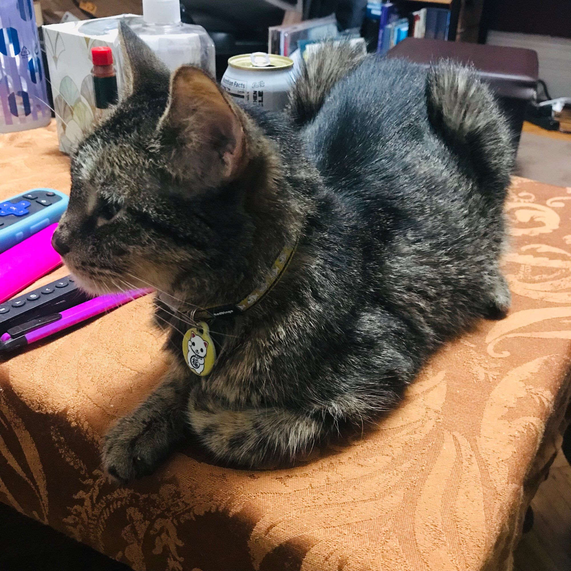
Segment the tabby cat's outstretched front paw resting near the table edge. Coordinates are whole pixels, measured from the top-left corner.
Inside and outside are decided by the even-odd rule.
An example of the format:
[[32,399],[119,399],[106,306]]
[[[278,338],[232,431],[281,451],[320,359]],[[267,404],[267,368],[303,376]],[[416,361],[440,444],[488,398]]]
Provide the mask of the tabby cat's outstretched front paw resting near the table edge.
[[119,419],[105,436],[103,467],[112,478],[126,484],[148,476],[167,453],[161,439],[148,425],[131,417]]

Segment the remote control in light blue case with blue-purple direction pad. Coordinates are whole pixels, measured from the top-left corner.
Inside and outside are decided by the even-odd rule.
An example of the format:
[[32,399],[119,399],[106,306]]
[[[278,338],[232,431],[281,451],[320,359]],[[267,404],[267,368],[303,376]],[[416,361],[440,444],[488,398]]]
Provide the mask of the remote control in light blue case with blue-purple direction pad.
[[33,188],[0,200],[0,252],[58,222],[69,198],[52,188]]

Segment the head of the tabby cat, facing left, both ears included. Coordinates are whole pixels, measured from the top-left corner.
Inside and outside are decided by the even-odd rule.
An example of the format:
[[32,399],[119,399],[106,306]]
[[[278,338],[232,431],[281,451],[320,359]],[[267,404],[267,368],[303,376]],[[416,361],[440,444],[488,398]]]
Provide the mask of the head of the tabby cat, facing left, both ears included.
[[206,73],[171,75],[127,26],[121,33],[128,87],[71,158],[54,247],[92,293],[230,292],[278,212],[268,188],[279,161]]

